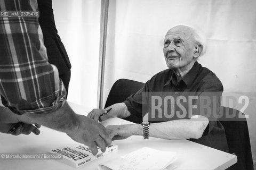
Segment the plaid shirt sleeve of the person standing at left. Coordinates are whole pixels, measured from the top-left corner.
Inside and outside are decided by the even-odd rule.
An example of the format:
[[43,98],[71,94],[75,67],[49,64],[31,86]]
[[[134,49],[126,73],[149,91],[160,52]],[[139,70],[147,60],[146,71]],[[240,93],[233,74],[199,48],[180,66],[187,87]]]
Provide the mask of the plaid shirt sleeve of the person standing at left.
[[[1,0],[1,11],[36,11],[36,0]],[[0,92],[12,112],[46,114],[60,108],[66,90],[49,64],[38,18],[0,16]]]

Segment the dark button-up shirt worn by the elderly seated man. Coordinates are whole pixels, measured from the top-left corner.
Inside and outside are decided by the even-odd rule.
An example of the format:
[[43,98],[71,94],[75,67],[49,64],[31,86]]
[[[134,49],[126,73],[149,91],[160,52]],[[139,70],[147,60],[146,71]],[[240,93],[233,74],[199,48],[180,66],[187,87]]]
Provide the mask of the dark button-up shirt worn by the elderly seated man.
[[[142,113],[145,114],[145,112],[147,112],[145,109],[143,109],[142,112],[142,105],[145,105],[145,101],[142,100],[143,92],[173,92],[173,96],[179,96],[184,92],[193,92],[193,95],[196,96],[201,96],[207,92],[216,92],[215,94],[220,97],[222,91],[223,86],[217,76],[209,69],[202,67],[201,64],[195,62],[191,70],[179,82],[171,69],[157,73],[146,82],[142,89],[127,98],[124,103],[132,115],[142,119]],[[220,112],[220,103],[220,100],[218,100],[216,104],[217,109],[215,111],[217,114]],[[210,106],[212,107],[212,105]],[[193,115],[194,114],[201,113],[193,112]],[[176,118],[174,118],[174,120]],[[190,140],[228,152],[225,130],[222,124],[217,120],[217,117],[212,116],[212,114],[207,118],[209,118],[209,124],[207,125],[203,136],[199,139]],[[161,121],[151,121],[150,123],[156,122]]]

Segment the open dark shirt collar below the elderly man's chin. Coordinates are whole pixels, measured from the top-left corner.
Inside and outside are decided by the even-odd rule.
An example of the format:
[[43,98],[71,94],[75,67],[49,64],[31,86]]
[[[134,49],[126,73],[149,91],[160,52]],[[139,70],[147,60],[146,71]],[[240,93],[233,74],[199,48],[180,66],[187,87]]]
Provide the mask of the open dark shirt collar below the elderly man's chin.
[[[189,70],[189,72],[181,79],[183,82],[185,82],[187,87],[190,87],[191,84],[194,82],[197,73],[199,72],[199,63],[196,61],[193,67]],[[164,86],[167,86],[171,83],[176,82],[177,83],[177,77],[175,73],[170,69],[169,70],[169,79],[165,82]]]

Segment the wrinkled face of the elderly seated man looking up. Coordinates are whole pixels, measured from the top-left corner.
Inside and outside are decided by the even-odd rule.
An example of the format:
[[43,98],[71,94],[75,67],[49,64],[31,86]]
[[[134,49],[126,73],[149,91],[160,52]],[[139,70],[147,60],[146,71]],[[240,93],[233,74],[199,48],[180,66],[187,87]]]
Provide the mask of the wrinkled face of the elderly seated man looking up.
[[196,43],[191,35],[192,31],[185,26],[173,27],[166,33],[163,51],[170,69],[182,69],[194,62]]

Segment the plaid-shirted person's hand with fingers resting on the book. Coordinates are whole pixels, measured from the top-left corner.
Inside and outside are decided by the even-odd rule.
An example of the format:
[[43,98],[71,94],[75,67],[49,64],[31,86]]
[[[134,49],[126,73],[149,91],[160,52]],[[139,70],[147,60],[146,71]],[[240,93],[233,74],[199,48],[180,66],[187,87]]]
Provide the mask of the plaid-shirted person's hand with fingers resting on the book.
[[107,129],[89,117],[77,115],[77,118],[79,120],[78,128],[67,133],[69,137],[88,146],[93,155],[98,152],[97,145],[102,152],[105,152],[106,147],[111,145],[111,138]]

